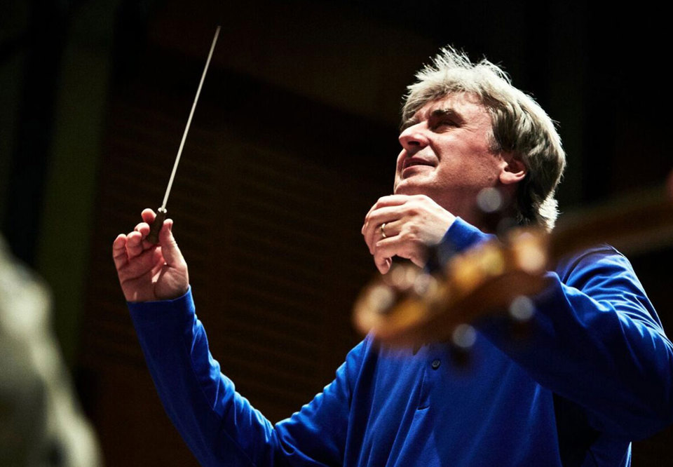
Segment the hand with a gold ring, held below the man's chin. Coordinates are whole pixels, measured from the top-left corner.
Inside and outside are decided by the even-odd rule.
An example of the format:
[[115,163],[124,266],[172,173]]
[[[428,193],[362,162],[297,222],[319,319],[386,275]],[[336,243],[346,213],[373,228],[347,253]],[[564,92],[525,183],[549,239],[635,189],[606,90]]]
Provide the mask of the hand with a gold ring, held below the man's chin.
[[385,274],[393,256],[425,266],[427,247],[440,243],[455,219],[425,195],[383,196],[367,212],[362,235],[374,264]]

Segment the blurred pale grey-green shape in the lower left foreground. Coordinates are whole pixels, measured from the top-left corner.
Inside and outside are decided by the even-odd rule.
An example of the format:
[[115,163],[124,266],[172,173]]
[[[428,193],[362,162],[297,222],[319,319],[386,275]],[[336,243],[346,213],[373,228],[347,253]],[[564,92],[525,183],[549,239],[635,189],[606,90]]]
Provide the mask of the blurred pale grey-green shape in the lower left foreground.
[[0,238],[0,466],[101,465],[50,328],[50,296]]

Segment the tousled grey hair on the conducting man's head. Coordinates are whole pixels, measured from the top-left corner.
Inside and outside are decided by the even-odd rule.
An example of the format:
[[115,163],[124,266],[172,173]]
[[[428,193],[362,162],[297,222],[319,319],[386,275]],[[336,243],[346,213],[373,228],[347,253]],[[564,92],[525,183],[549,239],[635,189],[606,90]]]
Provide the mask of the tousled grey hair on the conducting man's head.
[[475,64],[451,46],[442,48],[416,79],[407,88],[402,123],[428,102],[451,93],[476,95],[491,114],[494,152],[512,152],[527,169],[517,189],[517,221],[553,229],[558,215],[554,195],[566,155],[552,119],[540,105],[512,86],[497,65],[486,59]]

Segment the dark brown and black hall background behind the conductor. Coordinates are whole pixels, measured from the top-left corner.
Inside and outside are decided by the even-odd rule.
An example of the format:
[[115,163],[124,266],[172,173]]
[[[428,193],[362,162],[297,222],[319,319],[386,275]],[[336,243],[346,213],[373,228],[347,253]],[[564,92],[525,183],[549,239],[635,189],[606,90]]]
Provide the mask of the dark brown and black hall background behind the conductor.
[[[215,25],[168,210],[212,352],[272,421],[358,340],[360,225],[392,187],[400,96],[447,43],[501,63],[559,130],[569,212],[653,189],[669,152],[667,15],[566,2],[4,1],[0,215],[111,466],[193,464],[118,290],[116,234],[158,207]],[[625,219],[627,222],[627,219]],[[671,248],[631,258],[665,327]],[[671,431],[634,445],[662,465]]]

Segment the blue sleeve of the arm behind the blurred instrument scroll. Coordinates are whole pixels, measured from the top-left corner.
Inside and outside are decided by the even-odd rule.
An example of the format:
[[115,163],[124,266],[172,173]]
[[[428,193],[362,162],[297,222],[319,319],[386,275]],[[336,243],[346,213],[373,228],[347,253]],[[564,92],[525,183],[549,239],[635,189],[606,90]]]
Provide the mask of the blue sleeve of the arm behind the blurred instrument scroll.
[[[487,237],[461,222],[445,241],[461,250]],[[604,245],[547,278],[526,339],[512,338],[505,318],[484,320],[480,332],[539,384],[584,407],[598,431],[635,440],[671,424],[673,346],[628,260]]]

